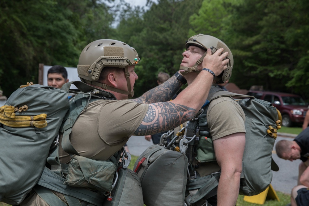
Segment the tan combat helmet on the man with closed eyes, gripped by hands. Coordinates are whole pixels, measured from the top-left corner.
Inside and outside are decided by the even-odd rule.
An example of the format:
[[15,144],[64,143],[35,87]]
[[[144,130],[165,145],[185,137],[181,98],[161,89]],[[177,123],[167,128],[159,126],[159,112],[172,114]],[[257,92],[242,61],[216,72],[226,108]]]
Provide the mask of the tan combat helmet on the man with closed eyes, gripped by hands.
[[[232,52],[226,46],[226,44],[224,44],[221,40],[219,40],[218,38],[214,36],[205,35],[205,34],[197,34],[197,35],[190,37],[188,41],[186,41],[186,49],[188,49],[190,45],[201,47],[205,50],[210,48],[212,53],[215,53],[217,49],[219,48],[224,48],[223,52],[229,53],[229,55],[226,58],[228,58],[230,62],[227,64],[227,69],[225,69],[220,75],[216,76],[214,78],[214,81],[215,83],[220,84],[230,79],[231,74],[232,74],[233,65],[234,65],[234,60],[233,60]],[[195,63],[195,65],[193,65],[193,67],[180,66],[180,69],[185,70],[184,72],[181,72],[181,73],[187,74],[189,72],[197,71],[197,66],[202,63],[205,56],[206,56],[206,53],[199,60],[197,60],[197,62]]]

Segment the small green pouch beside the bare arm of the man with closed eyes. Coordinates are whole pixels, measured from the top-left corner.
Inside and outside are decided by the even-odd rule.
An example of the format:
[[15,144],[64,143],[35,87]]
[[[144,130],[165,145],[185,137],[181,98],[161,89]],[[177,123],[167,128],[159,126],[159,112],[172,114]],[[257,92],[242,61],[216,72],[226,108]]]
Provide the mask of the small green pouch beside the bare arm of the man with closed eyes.
[[196,148],[196,157],[197,163],[200,162],[213,162],[216,161],[214,155],[214,144],[211,137],[201,137],[198,141]]

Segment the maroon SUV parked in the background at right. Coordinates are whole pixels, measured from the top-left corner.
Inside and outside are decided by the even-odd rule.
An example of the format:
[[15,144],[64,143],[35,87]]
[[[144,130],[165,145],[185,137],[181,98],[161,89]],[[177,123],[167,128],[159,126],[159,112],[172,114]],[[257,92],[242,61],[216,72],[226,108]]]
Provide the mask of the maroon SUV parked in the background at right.
[[308,104],[299,95],[249,90],[247,95],[273,104],[281,112],[282,126],[290,127],[294,123],[302,124],[308,110]]

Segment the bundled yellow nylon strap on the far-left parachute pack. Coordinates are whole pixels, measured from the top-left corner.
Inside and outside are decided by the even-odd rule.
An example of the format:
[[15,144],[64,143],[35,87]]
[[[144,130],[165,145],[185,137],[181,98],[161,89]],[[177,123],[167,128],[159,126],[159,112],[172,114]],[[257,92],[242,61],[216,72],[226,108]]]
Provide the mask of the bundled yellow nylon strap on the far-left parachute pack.
[[[28,109],[28,107],[27,107]],[[15,116],[15,107],[5,105],[0,107],[0,123],[9,127],[36,127],[44,128],[47,126],[46,114],[36,116]]]

